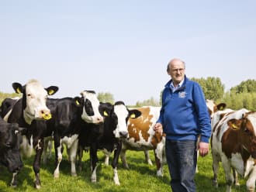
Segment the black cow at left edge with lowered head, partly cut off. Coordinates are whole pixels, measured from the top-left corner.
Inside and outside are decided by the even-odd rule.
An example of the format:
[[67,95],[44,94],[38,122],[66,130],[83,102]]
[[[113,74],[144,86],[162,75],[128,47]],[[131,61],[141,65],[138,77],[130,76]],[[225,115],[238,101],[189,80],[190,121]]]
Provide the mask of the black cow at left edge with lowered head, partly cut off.
[[19,145],[24,130],[17,123],[7,123],[0,118],[0,164],[12,173],[11,187],[17,186],[17,174],[23,166]]

